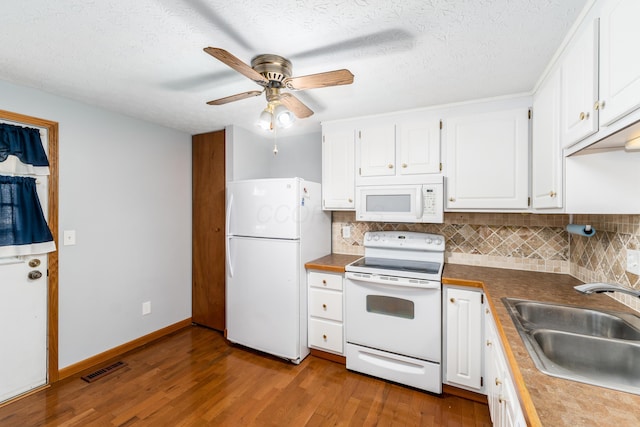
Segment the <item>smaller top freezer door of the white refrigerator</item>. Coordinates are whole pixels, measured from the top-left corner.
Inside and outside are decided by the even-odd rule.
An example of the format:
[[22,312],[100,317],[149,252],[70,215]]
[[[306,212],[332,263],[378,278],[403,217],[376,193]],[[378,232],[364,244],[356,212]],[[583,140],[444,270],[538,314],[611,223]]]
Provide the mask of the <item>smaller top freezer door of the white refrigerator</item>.
[[278,239],[300,238],[300,181],[291,178],[229,183],[227,234]]

